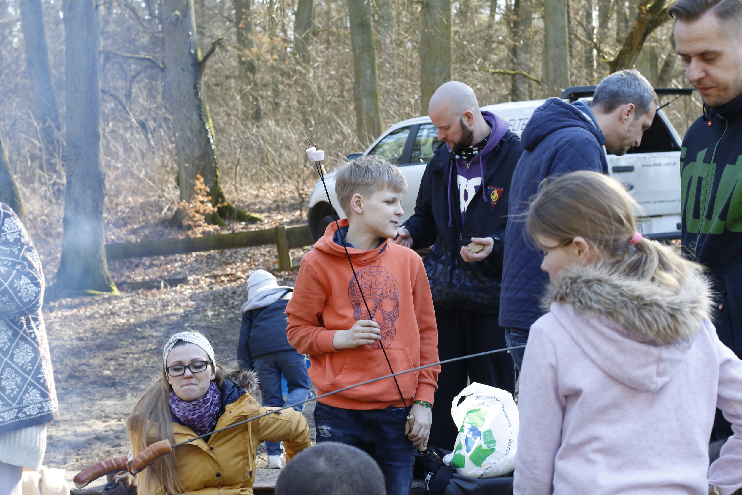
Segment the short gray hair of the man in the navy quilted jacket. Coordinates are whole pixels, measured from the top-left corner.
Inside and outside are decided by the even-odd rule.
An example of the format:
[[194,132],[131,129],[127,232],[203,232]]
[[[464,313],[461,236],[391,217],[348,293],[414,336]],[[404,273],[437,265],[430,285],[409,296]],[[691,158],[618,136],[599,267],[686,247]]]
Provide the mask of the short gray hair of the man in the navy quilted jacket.
[[634,69],[616,71],[603,79],[595,88],[592,108],[602,114],[610,114],[616,108],[633,103],[637,115],[644,115],[656,107],[660,99],[646,77]]

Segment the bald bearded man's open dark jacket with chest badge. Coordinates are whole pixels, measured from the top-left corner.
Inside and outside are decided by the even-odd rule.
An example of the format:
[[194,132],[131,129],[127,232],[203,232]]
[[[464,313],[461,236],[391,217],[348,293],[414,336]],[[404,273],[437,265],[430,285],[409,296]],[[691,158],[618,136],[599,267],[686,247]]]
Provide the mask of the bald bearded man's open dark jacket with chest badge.
[[[487,117],[485,112],[482,114]],[[490,314],[498,311],[510,179],[522,151],[518,135],[507,131],[485,162],[485,194],[480,191],[469,203],[463,227],[456,169],[453,175],[451,171],[456,165],[448,146],[440,146],[427,164],[415,214],[404,227],[410,231],[415,249],[433,246],[424,263],[436,307]],[[449,183],[450,177],[453,184]],[[471,237],[495,240],[492,253],[484,260],[467,263],[459,254],[461,246],[470,243]]]

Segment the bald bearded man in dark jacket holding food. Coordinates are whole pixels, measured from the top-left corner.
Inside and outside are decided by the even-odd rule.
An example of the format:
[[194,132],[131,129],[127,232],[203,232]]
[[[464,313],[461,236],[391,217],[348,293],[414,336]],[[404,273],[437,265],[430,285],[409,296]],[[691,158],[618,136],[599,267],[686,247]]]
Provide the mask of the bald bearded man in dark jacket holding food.
[[[508,122],[479,111],[474,91],[462,82],[438,88],[428,113],[444,144],[425,168],[415,214],[398,228],[395,243],[433,246],[424,263],[443,360],[505,347],[497,323],[502,238],[510,178],[523,148]],[[467,249],[469,243],[476,249]],[[429,445],[453,449],[458,430],[450,404],[467,378],[513,392],[513,361],[500,353],[444,364]]]

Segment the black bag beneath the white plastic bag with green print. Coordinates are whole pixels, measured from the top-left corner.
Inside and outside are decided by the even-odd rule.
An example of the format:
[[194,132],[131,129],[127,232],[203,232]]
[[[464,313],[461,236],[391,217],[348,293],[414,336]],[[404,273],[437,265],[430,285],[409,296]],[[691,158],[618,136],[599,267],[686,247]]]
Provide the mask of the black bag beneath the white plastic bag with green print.
[[470,478],[443,464],[450,453],[437,447],[416,452],[415,459],[425,471],[425,492],[429,495],[513,495],[513,475],[498,478]]

